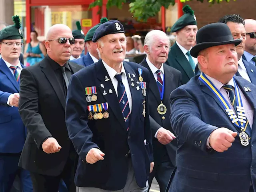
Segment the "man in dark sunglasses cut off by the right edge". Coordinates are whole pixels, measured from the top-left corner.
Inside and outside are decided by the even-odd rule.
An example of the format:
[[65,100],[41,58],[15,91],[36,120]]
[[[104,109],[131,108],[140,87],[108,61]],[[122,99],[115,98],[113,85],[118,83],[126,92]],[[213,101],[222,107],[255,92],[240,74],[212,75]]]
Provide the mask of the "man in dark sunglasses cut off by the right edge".
[[256,20],[246,19],[245,30],[246,30],[246,43],[243,59],[255,66],[256,64]]

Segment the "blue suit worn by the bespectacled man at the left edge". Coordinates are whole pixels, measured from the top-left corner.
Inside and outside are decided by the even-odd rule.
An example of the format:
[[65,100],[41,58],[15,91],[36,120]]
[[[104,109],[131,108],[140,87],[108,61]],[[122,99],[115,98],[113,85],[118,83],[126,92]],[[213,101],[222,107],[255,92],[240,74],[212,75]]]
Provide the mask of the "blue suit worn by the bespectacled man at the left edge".
[[[22,65],[22,68],[24,66]],[[0,59],[0,191],[9,191],[19,174],[24,191],[32,191],[29,172],[18,168],[20,152],[26,139],[26,128],[17,107],[7,104],[8,97],[20,92],[14,75]]]

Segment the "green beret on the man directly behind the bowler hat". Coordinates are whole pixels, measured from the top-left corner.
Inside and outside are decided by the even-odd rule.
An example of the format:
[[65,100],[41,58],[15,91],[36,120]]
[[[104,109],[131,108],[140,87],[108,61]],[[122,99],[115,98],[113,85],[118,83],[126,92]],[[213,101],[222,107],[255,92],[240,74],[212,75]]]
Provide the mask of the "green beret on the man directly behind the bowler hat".
[[187,25],[197,25],[196,16],[194,11],[189,5],[186,5],[182,8],[184,15],[182,15],[172,26],[171,32],[176,32],[186,27]]

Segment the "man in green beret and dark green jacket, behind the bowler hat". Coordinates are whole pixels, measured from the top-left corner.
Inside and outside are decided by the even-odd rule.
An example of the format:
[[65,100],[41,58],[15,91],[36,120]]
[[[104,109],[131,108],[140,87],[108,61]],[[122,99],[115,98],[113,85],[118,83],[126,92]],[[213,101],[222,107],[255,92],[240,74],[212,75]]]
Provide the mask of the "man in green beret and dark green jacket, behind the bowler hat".
[[182,74],[182,84],[186,84],[195,75],[197,59],[190,55],[192,46],[196,43],[197,22],[194,11],[186,5],[182,9],[184,15],[171,28],[176,32],[176,43],[171,47],[166,64],[178,69]]

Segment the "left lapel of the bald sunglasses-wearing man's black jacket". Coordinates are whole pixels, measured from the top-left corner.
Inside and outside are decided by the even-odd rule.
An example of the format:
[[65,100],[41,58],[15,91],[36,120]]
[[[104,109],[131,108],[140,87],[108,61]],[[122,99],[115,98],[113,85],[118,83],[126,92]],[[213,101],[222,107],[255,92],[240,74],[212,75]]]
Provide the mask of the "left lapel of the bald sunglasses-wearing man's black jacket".
[[48,79],[54,91],[56,92],[56,95],[58,96],[63,109],[65,109],[65,106],[66,106],[65,95],[61,89],[60,84],[58,83],[58,79],[54,73],[54,70],[52,70],[50,64],[48,64],[47,57],[44,58],[44,60],[42,61],[41,67],[42,67],[42,72],[45,74],[46,78]]

